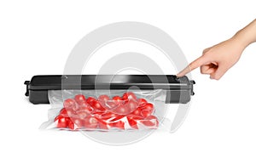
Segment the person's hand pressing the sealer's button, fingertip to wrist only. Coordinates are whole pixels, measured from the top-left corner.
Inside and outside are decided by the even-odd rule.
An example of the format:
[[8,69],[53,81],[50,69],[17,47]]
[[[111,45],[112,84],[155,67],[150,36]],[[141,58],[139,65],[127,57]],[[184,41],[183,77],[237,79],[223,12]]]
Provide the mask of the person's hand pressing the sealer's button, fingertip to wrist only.
[[189,71],[201,67],[201,74],[208,74],[210,78],[218,80],[236,64],[244,48],[236,37],[220,42],[211,48],[205,49],[200,58],[195,59],[177,76],[184,76]]

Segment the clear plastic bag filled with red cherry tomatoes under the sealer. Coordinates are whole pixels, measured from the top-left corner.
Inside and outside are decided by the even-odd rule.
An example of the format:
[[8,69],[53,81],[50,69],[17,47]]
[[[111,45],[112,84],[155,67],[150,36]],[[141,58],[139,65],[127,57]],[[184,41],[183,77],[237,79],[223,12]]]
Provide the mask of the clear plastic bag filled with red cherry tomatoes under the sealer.
[[70,131],[170,130],[166,90],[50,90],[43,129]]

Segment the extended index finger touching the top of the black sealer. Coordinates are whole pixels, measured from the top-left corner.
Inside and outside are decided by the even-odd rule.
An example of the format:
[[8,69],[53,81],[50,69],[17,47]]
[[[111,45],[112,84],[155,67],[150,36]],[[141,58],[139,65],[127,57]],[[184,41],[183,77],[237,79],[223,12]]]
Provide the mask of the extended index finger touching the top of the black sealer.
[[207,63],[207,58],[205,56],[201,56],[200,58],[191,62],[186,68],[183,69],[183,71],[180,71],[177,76],[185,76],[190,71],[195,70],[195,68],[204,65],[205,63]]

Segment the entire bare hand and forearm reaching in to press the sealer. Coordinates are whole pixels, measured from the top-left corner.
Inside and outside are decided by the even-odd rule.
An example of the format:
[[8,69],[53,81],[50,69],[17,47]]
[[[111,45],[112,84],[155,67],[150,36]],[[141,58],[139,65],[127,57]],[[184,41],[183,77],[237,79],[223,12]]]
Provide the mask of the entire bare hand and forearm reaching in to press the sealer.
[[185,76],[196,68],[201,68],[201,74],[210,75],[218,80],[240,59],[248,45],[256,42],[256,20],[237,31],[235,36],[203,50],[201,57],[195,59],[177,76]]

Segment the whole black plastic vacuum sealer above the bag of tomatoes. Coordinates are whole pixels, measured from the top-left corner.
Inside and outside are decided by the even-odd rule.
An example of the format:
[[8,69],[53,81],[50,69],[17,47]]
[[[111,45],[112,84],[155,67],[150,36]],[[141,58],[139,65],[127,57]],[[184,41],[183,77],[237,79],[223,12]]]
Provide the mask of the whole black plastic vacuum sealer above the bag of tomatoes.
[[45,75],[32,76],[26,96],[32,104],[49,104],[48,91],[61,89],[164,89],[166,104],[190,101],[193,84],[187,76],[173,75]]

